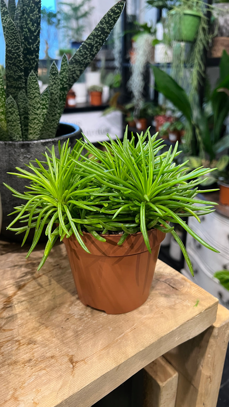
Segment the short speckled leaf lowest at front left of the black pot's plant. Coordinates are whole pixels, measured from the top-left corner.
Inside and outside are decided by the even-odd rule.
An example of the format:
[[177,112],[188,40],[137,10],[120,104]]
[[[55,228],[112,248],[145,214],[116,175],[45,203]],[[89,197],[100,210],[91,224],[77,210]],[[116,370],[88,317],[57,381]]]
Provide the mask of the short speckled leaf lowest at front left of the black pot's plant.
[[11,141],[22,140],[22,129],[17,103],[12,96],[6,101],[7,129]]

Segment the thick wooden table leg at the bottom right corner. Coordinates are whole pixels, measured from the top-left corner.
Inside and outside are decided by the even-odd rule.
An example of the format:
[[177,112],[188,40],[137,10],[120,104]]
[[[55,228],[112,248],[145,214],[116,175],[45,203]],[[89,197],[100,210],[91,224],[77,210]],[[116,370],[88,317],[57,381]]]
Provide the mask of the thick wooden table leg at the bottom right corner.
[[178,371],[176,407],[216,407],[229,340],[229,310],[218,305],[216,322],[167,352]]

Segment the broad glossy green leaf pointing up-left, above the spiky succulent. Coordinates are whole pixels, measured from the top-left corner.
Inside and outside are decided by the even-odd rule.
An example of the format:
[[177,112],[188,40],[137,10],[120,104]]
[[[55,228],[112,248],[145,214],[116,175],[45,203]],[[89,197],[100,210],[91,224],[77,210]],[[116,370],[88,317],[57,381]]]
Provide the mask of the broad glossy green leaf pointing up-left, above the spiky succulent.
[[173,105],[183,113],[188,122],[191,123],[192,108],[185,91],[172,77],[156,66],[153,66],[153,73],[157,90],[162,93],[166,99],[172,102]]

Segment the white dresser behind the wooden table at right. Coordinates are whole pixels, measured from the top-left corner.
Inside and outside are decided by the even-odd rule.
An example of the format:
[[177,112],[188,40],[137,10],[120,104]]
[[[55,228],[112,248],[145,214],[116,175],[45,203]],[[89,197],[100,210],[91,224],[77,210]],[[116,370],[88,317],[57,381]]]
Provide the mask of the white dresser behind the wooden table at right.
[[[217,202],[218,194],[199,195],[199,198]],[[229,207],[216,206],[215,212],[202,216],[200,219],[201,223],[198,223],[194,217],[190,217],[188,225],[220,253],[212,252],[187,234],[186,250],[193,265],[194,278],[191,276],[186,262],[181,273],[216,296],[222,305],[229,308],[229,291],[213,277],[218,270],[229,270]]]

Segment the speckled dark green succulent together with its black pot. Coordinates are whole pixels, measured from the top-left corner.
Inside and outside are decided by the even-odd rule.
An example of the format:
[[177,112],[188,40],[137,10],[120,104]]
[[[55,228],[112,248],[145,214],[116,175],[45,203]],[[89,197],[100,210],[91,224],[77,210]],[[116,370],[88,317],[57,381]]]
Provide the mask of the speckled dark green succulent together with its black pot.
[[[11,197],[2,188],[3,181],[9,182],[7,172],[12,171],[15,165],[21,166],[27,160],[39,157],[45,146],[51,148],[55,144],[57,151],[59,140],[63,143],[70,138],[70,144],[74,145],[76,138],[80,137],[78,126],[59,124],[66,95],[100,50],[123,7],[124,1],[121,1],[108,11],[69,63],[67,57],[63,56],[60,72],[56,64],[52,64],[48,88],[40,94],[37,68],[41,4],[32,0],[26,4],[18,1],[15,9],[15,4],[11,2],[11,9],[8,10],[4,0],[0,0],[6,42],[6,88],[0,72],[2,236],[8,239],[13,237],[10,232],[6,234],[9,223],[7,212],[9,206],[13,210],[21,203],[18,197]],[[12,9],[15,9],[15,15],[12,15]],[[19,179],[15,186],[22,192],[24,182]]]

